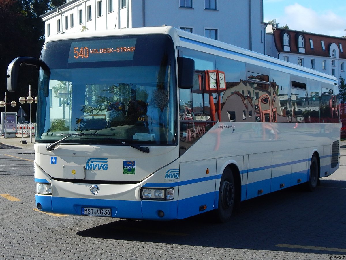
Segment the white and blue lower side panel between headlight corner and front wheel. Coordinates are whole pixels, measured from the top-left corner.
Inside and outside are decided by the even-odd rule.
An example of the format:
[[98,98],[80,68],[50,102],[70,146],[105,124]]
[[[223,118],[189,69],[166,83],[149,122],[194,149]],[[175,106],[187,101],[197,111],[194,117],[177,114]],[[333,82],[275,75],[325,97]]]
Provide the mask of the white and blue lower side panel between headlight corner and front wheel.
[[180,163],[178,218],[213,210],[215,182],[216,159]]

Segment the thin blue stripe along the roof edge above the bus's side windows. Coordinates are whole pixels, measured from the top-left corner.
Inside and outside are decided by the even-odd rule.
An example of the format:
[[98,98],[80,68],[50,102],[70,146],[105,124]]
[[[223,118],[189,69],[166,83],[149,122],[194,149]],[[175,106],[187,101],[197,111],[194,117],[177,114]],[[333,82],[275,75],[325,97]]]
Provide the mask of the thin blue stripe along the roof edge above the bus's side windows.
[[[211,45],[211,44],[208,44],[208,43],[203,43],[203,42],[199,42],[199,41],[196,41],[196,40],[191,40],[191,39],[188,39],[188,38],[185,38],[185,37],[182,37],[182,36],[180,36],[179,38],[183,42],[196,44],[196,45],[199,45],[199,46],[202,46],[202,47],[208,47],[209,49],[225,52],[225,53],[228,53],[228,54],[233,54],[233,55],[236,55],[238,57],[247,57],[247,58],[250,58],[252,60],[261,60],[262,62],[264,62],[266,64],[272,64],[272,65],[275,65],[275,66],[284,67],[284,68],[286,68],[288,70],[297,71],[297,69],[291,68],[291,67],[283,65],[283,64],[278,64],[278,63],[270,62],[270,61],[264,60],[264,59],[262,59],[260,57],[253,57],[253,56],[250,56],[250,55],[247,55],[247,54],[231,51],[231,50],[228,50],[228,49],[225,49],[225,48],[222,48],[222,47],[217,47],[217,46],[214,46],[214,45]],[[313,75],[314,77],[317,77],[317,78],[327,79],[328,81],[332,81],[328,77],[323,77],[321,75],[311,74],[311,73],[303,71],[303,70],[299,70],[299,72],[301,72],[303,74],[306,74],[306,75]]]

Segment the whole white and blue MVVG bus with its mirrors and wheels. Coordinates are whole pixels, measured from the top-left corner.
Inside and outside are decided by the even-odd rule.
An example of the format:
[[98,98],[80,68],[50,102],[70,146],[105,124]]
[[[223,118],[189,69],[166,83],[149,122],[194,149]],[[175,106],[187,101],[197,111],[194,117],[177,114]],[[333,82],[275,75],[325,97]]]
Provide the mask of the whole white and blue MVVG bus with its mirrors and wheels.
[[39,210],[221,222],[339,167],[335,77],[173,27],[49,36],[35,136]]

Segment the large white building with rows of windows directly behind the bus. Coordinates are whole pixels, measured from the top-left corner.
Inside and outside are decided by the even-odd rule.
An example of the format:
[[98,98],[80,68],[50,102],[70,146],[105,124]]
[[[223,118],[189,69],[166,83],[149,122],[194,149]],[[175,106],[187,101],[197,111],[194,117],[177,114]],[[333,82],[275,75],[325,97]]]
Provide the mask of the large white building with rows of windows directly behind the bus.
[[41,18],[46,37],[165,24],[265,54],[263,0],[72,0]]

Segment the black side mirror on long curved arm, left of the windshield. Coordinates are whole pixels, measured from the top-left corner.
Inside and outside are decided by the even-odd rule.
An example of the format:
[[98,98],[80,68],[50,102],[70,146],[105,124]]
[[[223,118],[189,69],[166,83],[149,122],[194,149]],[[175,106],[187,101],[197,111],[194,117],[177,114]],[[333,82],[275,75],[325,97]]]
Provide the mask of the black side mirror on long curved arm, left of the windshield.
[[41,84],[44,87],[44,95],[48,96],[48,82],[49,77],[51,76],[51,71],[49,70],[46,63],[37,58],[29,58],[29,57],[19,57],[11,61],[7,68],[7,89],[9,92],[15,92],[18,85],[18,77],[19,77],[19,67],[22,65],[31,65],[36,66],[37,69],[42,68],[44,71],[43,79],[41,80]]

